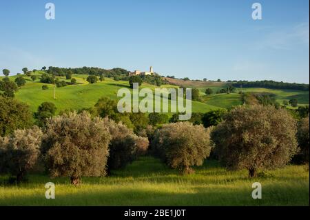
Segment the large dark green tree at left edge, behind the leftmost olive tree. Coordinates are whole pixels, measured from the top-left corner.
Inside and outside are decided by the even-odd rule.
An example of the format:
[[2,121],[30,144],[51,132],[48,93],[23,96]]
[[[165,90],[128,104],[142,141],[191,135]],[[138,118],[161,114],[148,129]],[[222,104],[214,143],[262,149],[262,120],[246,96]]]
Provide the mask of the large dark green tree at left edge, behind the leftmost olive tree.
[[0,135],[12,134],[14,130],[30,128],[32,114],[25,103],[0,96]]

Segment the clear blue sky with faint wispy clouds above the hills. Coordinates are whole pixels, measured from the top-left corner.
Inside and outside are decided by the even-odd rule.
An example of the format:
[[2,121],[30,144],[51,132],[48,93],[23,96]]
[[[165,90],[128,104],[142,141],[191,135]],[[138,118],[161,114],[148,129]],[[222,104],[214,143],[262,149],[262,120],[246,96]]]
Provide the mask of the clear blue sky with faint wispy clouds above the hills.
[[[45,19],[45,3],[56,19]],[[262,20],[251,5],[262,4]],[[0,1],[0,69],[148,70],[309,83],[309,0]]]

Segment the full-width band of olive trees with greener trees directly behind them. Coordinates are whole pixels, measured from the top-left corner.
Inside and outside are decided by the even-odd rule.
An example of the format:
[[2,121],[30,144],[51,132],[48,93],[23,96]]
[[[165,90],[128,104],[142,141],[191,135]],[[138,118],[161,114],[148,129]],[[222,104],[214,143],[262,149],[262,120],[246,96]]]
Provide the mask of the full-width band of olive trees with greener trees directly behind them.
[[0,172],[20,182],[41,166],[51,177],[78,184],[81,177],[108,175],[147,153],[183,173],[213,155],[228,169],[247,169],[255,177],[296,154],[309,163],[309,108],[306,113],[296,120],[285,108],[254,103],[194,113],[187,122],[175,114],[167,121],[165,114],[121,114],[116,101],[103,97],[92,108],[59,115],[53,103],[42,103],[34,125],[27,105],[0,97]]

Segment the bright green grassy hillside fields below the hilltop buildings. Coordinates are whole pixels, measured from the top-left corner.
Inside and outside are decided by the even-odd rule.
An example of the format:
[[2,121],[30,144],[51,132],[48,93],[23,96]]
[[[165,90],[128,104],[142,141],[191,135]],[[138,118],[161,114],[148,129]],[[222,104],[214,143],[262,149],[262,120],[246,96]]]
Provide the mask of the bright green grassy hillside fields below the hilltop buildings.
[[[15,96],[20,101],[28,103],[32,112],[35,112],[38,106],[43,101],[50,101],[57,107],[57,111],[82,108],[90,108],[94,106],[96,101],[101,97],[109,97],[110,99],[120,99],[116,97],[116,90],[120,88],[129,88],[127,81],[114,81],[110,78],[105,78],[105,81],[90,84],[86,81],[87,74],[74,74],[72,77],[76,79],[76,85],[56,88],[56,99],[54,99],[54,85],[48,85],[48,90],[42,90],[44,83],[40,82],[41,71],[37,71],[37,79],[32,81],[30,77],[25,77],[27,83],[22,86]],[[10,77],[14,80],[17,76]],[[1,77],[2,78],[2,77]],[[60,80],[70,81],[65,77],[58,77]],[[171,79],[170,79],[171,80]],[[205,89],[211,88],[214,92],[225,88],[227,83],[224,82],[209,82],[209,81],[183,81],[180,79],[172,79],[170,83],[174,85],[163,85],[161,88],[178,88],[185,86],[187,88],[198,88],[200,90],[201,102],[193,101],[192,112],[207,112],[219,108],[231,108],[242,104],[240,88],[236,89],[235,93],[231,94],[211,94],[206,95]],[[143,83],[139,88],[151,88],[154,91],[155,86]],[[283,100],[298,99],[298,105],[309,105],[309,91],[299,90],[276,90],[266,88],[242,88],[242,92],[267,92],[276,95],[276,101],[282,103]],[[141,98],[142,99],[142,98]]]

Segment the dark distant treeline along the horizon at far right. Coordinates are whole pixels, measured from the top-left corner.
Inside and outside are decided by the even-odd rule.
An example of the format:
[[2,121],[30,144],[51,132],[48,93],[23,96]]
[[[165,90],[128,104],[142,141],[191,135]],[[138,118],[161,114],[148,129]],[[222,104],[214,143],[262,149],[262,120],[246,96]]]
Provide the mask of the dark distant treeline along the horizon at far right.
[[309,84],[303,83],[284,83],[277,82],[272,80],[263,80],[263,81],[237,81],[233,83],[235,87],[242,88],[274,88],[274,89],[283,89],[283,90],[302,90],[309,91]]

